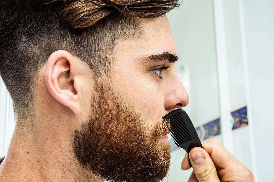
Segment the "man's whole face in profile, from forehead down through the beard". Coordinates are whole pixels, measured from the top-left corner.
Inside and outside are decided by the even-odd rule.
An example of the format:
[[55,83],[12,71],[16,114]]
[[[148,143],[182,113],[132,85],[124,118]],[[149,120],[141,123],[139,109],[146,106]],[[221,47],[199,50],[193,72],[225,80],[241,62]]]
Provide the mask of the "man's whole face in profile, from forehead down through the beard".
[[188,103],[174,70],[176,45],[167,18],[141,21],[142,37],[116,44],[112,79],[96,83],[92,114],[75,133],[79,162],[112,181],[165,177],[169,123],[162,117]]

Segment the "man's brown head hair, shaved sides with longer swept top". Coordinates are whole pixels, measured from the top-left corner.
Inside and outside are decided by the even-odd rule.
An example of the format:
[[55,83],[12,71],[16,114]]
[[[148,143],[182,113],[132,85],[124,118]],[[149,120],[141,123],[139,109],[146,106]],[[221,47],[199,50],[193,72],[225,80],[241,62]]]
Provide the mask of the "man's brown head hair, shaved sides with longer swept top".
[[111,66],[118,40],[138,36],[138,17],[159,17],[178,0],[6,1],[0,4],[0,74],[17,116],[33,114],[35,75],[64,49],[99,76]]

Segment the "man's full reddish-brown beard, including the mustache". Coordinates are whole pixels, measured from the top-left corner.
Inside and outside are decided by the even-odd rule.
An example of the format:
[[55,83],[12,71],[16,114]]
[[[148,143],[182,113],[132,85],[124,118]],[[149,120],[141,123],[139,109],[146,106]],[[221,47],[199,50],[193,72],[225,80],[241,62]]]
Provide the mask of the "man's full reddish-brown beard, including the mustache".
[[161,140],[169,122],[147,131],[140,114],[109,90],[97,86],[92,114],[75,132],[78,162],[108,181],[161,181],[170,165],[170,144]]

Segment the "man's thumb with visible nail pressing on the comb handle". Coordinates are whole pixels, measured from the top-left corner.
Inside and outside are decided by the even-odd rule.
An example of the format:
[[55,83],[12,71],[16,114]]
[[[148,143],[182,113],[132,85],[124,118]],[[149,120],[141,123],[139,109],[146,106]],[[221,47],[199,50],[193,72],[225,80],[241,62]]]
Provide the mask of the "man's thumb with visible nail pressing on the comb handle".
[[189,152],[193,171],[199,182],[220,182],[215,165],[209,154],[200,147]]

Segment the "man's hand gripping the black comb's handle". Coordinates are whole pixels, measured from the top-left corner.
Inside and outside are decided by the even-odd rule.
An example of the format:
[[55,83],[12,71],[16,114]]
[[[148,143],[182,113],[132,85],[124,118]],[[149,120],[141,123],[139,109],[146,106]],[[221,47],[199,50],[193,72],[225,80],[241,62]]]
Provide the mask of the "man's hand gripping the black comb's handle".
[[[204,149],[195,147],[189,153],[193,168],[189,182],[255,182],[253,173],[218,140],[202,142],[202,146]],[[181,169],[189,168],[189,156],[185,153]]]

